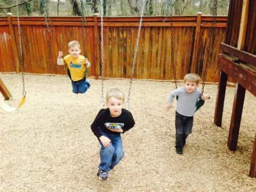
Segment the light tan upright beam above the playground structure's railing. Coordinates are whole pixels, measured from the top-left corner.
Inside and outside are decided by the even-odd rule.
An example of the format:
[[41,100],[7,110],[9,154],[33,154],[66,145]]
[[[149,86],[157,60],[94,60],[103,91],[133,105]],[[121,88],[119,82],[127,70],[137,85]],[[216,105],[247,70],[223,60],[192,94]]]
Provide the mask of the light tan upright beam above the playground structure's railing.
[[241,14],[239,37],[238,37],[238,43],[237,43],[238,50],[244,49],[244,42],[245,42],[247,21],[248,21],[248,10],[249,10],[249,0],[244,0],[242,14]]

